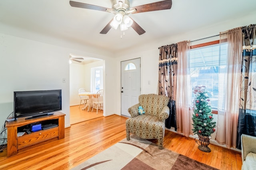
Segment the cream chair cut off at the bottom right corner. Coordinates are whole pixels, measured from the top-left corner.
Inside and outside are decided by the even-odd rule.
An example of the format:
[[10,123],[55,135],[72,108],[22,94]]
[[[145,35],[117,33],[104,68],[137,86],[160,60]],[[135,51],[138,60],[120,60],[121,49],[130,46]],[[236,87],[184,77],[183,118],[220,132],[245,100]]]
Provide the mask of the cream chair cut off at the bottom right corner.
[[256,170],[256,137],[241,135],[242,170]]

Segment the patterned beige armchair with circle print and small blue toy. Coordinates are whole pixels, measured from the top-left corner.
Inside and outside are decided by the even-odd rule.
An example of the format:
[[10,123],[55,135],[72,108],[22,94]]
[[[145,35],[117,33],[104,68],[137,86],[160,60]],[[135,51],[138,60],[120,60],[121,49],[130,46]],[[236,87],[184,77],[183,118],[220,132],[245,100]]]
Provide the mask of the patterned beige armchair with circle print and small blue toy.
[[[139,103],[130,107],[131,117],[126,120],[126,139],[130,140],[130,132],[142,139],[157,139],[158,148],[163,149],[165,119],[170,109],[169,98],[157,94],[142,94]],[[145,113],[140,115],[138,107],[142,106]]]

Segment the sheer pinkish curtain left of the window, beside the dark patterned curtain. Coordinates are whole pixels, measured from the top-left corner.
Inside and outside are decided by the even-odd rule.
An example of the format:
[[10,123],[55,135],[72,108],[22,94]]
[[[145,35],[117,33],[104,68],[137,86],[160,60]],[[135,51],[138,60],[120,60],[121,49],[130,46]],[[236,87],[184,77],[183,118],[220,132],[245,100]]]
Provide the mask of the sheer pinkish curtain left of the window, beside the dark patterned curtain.
[[176,90],[176,117],[177,132],[188,137],[192,127],[192,110],[189,110],[189,96],[192,88],[190,86],[190,41],[182,41],[178,45],[178,70]]

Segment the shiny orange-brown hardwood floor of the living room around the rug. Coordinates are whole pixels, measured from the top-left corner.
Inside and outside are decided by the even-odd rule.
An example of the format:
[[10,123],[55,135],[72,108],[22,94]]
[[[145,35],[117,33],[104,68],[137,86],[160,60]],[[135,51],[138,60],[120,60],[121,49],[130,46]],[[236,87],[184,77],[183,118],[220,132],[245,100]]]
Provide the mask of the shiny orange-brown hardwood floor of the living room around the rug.
[[[118,143],[126,137],[126,117],[112,115],[76,123],[65,129],[65,138],[50,140],[19,150],[7,158],[0,153],[1,170],[70,169]],[[155,142],[154,140],[152,140]],[[192,138],[165,131],[164,147],[221,170],[240,170],[241,154],[210,145],[212,152],[202,152]]]

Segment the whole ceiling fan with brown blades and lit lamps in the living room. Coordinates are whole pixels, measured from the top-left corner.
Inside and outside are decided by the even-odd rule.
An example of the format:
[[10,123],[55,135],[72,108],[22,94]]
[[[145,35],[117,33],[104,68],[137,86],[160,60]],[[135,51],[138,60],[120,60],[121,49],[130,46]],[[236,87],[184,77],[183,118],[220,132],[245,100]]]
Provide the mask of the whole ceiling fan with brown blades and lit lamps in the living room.
[[132,27],[139,35],[144,34],[146,31],[138,25],[132,18],[128,17],[129,14],[136,14],[140,12],[150,12],[158,10],[168,10],[172,7],[172,0],[163,0],[159,2],[153,2],[150,4],[144,4],[140,6],[134,6],[130,8],[129,0],[113,0],[112,9],[102,6],[96,6],[91,4],[85,4],[82,2],[69,1],[70,6],[77,8],[85,8],[90,10],[98,10],[104,12],[111,12],[115,16],[114,18],[100,31],[101,34],[106,34],[113,27],[117,29],[120,25],[120,29],[126,30],[128,27]]

